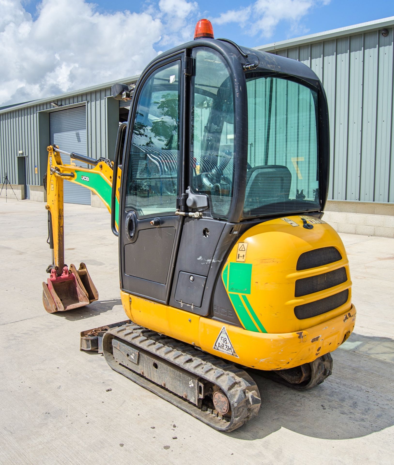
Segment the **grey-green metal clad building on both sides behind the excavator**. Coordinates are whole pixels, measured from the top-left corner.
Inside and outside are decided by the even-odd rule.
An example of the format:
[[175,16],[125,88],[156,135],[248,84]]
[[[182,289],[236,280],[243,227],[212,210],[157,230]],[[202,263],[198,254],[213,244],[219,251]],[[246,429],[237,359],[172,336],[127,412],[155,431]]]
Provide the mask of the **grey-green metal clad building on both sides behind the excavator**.
[[[329,199],[345,201],[348,205],[355,202],[360,208],[364,202],[372,202],[376,208],[378,204],[391,203],[384,207],[382,214],[392,216],[393,35],[394,17],[391,17],[256,47],[302,61],[323,82],[331,126]],[[118,81],[130,84],[137,78]],[[30,198],[43,200],[43,188],[40,186],[47,168],[51,114],[63,112],[66,118],[64,110],[78,106],[85,111],[86,142],[78,142],[74,128],[68,134],[71,137],[70,150],[75,142],[75,146],[79,147],[85,144],[86,150],[79,150],[90,157],[111,158],[119,121],[127,113],[122,108],[123,102],[119,105],[110,96],[112,84],[0,109],[1,179],[7,172],[11,183],[30,186],[27,188]],[[53,104],[60,106],[54,107]],[[122,111],[125,113],[121,114]],[[79,132],[81,137],[82,132]],[[37,197],[37,190],[41,190],[41,197]],[[75,191],[74,194],[78,197]],[[87,203],[88,199],[83,201],[80,198],[80,202]],[[355,210],[354,206],[350,210],[341,208],[339,211],[367,213],[366,209]],[[372,212],[371,207],[368,208]],[[379,211],[382,208],[379,206]],[[387,219],[384,221],[385,226],[386,222],[391,224]]]

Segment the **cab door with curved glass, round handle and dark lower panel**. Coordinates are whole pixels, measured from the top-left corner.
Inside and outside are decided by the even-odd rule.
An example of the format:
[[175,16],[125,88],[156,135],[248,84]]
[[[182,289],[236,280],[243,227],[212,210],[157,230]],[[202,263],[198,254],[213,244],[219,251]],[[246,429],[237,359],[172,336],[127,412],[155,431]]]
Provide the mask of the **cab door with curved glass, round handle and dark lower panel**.
[[[144,78],[143,78],[144,79]],[[181,220],[181,56],[137,86],[122,170],[122,289],[167,303]]]

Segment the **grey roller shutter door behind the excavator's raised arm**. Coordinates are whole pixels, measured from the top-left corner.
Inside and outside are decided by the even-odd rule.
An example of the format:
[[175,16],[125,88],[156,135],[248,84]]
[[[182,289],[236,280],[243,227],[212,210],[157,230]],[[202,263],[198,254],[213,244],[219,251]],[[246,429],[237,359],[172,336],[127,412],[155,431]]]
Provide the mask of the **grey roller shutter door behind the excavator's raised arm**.
[[[86,108],[77,106],[49,114],[51,144],[65,152],[87,155]],[[61,155],[63,163],[70,163],[70,157]],[[86,163],[75,160],[77,166],[87,167]],[[90,191],[85,187],[64,181],[64,202],[90,205]]]

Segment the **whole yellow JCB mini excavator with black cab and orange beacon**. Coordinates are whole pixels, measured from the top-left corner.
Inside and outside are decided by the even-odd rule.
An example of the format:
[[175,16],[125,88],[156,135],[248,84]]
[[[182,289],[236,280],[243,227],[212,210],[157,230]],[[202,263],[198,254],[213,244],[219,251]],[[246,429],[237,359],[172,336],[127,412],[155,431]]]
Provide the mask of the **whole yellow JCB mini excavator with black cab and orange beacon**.
[[[131,90],[116,84],[114,98]],[[232,431],[260,408],[245,369],[309,389],[331,374],[330,353],[354,328],[346,252],[322,220],[326,95],[309,67],[214,39],[207,20],[133,91],[114,161],[66,153],[93,167],[64,165],[65,152],[48,147],[44,306],[98,298],[86,266],[64,264],[66,179],[111,212],[129,319],[82,333],[81,349]]]

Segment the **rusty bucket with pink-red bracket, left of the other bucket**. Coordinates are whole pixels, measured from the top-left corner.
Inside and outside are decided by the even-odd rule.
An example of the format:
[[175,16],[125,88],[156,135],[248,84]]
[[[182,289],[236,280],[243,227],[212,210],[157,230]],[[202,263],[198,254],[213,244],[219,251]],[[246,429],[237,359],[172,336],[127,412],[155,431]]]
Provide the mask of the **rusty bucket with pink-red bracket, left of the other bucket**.
[[[45,310],[48,313],[64,312],[88,305],[90,303],[89,297],[85,289],[80,286],[79,281],[73,272],[68,271],[67,266],[63,268],[61,276],[57,276],[54,269],[51,270],[51,276],[47,279],[47,283],[42,283],[42,302]],[[94,289],[96,288],[94,287]]]

